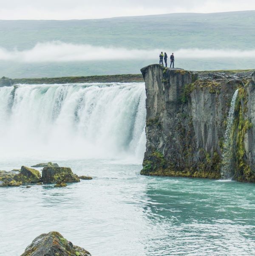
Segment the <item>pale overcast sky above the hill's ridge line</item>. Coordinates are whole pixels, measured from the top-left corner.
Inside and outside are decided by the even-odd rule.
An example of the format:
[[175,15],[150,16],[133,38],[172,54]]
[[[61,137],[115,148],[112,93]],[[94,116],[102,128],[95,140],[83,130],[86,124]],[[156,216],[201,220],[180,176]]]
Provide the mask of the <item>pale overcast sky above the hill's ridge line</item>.
[[0,0],[0,5],[0,20],[68,20],[174,12],[255,10],[255,0]]

